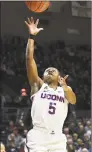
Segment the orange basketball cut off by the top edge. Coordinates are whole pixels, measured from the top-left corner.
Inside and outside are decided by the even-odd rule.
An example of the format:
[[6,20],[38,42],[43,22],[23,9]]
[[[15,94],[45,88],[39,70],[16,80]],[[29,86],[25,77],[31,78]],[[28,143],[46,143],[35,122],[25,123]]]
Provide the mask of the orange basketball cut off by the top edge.
[[49,1],[25,1],[29,10],[35,13],[41,13],[47,10],[50,6]]

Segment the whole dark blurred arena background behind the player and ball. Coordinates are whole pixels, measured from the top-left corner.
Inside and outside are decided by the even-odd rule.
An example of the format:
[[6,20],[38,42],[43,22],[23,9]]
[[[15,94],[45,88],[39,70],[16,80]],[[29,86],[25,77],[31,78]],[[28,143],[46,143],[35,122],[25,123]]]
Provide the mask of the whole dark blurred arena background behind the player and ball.
[[[0,141],[7,151],[23,151],[30,117],[31,88],[28,83],[25,52],[27,17],[40,19],[44,28],[36,38],[35,60],[39,76],[49,66],[62,76],[77,96],[69,105],[64,133],[69,152],[91,152],[91,2],[51,2],[48,11],[35,14],[24,2],[1,2]],[[85,149],[84,149],[85,150]]]

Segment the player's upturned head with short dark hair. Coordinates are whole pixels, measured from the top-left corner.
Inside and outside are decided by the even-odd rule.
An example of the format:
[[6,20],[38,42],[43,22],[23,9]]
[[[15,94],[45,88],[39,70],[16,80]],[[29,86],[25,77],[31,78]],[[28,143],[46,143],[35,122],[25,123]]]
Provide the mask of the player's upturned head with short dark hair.
[[50,67],[45,70],[43,78],[47,83],[58,82],[59,72],[56,68]]

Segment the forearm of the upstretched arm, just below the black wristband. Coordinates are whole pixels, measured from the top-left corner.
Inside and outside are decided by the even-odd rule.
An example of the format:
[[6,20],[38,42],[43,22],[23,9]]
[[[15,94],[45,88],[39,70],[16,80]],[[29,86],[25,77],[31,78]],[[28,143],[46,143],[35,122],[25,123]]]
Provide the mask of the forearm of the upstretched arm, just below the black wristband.
[[26,61],[33,61],[34,57],[34,40],[33,39],[28,39],[27,47],[26,47]]

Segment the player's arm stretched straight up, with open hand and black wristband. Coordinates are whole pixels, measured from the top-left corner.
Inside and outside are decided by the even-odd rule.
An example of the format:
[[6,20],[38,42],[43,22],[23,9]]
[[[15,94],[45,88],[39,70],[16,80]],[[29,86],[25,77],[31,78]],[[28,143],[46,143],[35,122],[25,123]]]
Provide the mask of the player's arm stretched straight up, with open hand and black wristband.
[[38,19],[34,23],[33,17],[31,17],[31,19],[28,18],[28,22],[25,21],[30,34],[26,48],[26,68],[31,87],[36,84],[42,85],[43,83],[43,81],[38,76],[37,65],[34,60],[34,37],[37,33],[43,30],[43,28],[37,28],[38,23]]

